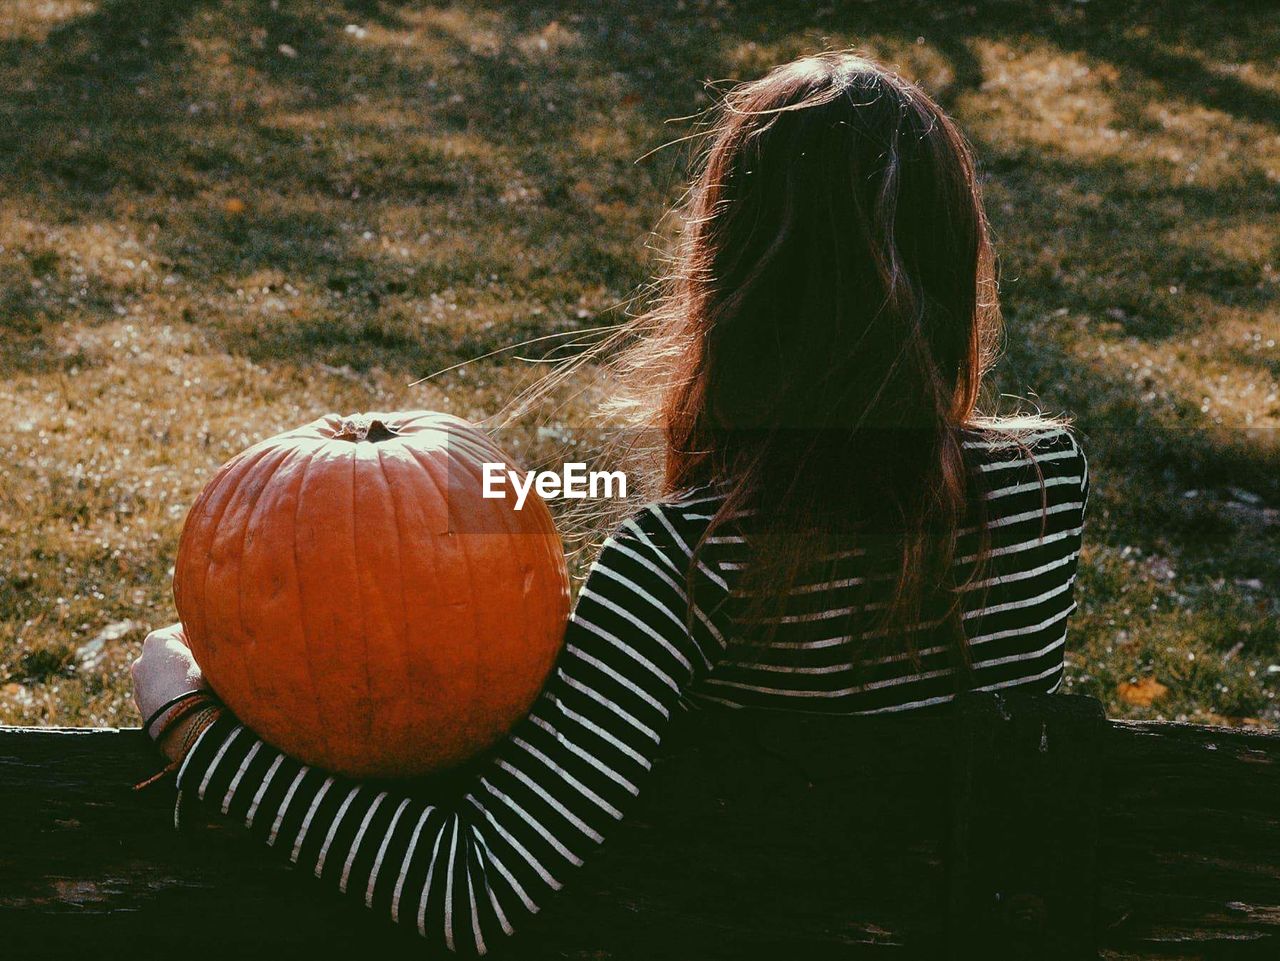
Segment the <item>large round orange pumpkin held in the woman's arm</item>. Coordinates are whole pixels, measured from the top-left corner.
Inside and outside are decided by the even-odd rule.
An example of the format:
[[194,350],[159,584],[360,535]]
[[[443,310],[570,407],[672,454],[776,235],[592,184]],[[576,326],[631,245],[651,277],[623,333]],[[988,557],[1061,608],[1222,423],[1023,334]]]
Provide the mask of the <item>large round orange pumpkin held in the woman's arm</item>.
[[417,411],[321,417],[218,471],[183,527],[174,600],[209,683],[265,741],[408,777],[527,713],[568,572],[547,504],[484,498],[484,463],[509,461]]

